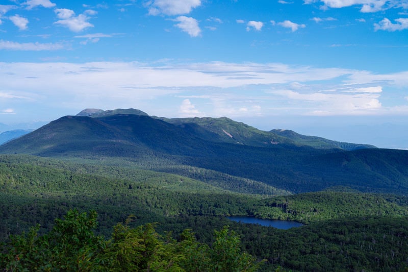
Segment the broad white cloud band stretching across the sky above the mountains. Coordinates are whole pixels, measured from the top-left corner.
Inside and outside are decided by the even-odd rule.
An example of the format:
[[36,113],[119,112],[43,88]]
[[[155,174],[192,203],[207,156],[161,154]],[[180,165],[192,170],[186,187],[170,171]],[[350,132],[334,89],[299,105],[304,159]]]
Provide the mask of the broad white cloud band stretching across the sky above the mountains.
[[[96,34],[87,37],[96,37]],[[34,97],[36,103],[49,102],[70,109],[97,105],[108,109],[154,110],[158,100],[165,105],[183,97],[188,101],[182,109],[195,115],[198,115],[194,113],[197,109],[208,116],[259,116],[261,113],[265,116],[271,112],[356,115],[391,114],[393,106],[381,105],[382,99],[387,105],[392,105],[393,99],[397,100],[394,105],[403,105],[400,97],[406,96],[403,90],[408,88],[408,71],[381,75],[282,63],[180,64],[169,60],[162,63],[0,63],[0,82],[0,97],[3,91],[4,98],[18,94]],[[193,97],[201,99],[192,103]],[[402,102],[406,104],[405,100]],[[6,105],[17,107],[12,103]],[[163,112],[162,116],[169,114],[174,116],[177,109],[167,114]]]

